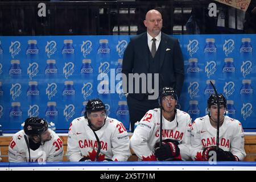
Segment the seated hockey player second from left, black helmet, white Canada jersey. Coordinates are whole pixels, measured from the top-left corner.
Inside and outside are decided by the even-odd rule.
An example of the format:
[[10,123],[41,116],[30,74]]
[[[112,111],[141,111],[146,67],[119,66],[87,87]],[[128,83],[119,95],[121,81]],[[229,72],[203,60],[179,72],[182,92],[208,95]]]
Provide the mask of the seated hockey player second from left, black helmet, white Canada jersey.
[[106,115],[106,107],[96,98],[86,105],[85,117],[72,121],[68,133],[69,161],[126,161],[130,139],[123,124]]

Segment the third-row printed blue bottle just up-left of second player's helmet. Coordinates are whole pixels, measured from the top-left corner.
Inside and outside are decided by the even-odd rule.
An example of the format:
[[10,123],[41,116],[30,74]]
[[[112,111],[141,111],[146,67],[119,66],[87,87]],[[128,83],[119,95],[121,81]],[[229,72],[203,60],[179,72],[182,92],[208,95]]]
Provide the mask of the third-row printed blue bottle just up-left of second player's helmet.
[[73,81],[65,81],[64,89],[62,92],[63,100],[65,104],[70,104],[70,102],[75,102],[75,88],[73,87]]

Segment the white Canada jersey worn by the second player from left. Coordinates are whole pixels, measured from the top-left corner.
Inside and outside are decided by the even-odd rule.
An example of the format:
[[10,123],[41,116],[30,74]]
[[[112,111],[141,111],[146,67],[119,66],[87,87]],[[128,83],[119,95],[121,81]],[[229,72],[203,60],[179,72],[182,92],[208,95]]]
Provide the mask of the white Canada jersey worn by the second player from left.
[[[123,124],[117,119],[106,118],[105,125],[95,131],[101,143],[98,161],[112,159],[126,161],[130,155],[130,139]],[[95,161],[98,149],[97,139],[84,117],[72,121],[68,132],[69,161],[78,162],[83,157]]]

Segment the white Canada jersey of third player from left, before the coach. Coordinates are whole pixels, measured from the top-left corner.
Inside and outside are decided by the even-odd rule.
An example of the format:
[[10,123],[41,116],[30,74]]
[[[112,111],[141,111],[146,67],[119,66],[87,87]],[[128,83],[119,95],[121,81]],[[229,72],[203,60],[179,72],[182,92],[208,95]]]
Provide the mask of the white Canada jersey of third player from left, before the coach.
[[[162,138],[173,139],[180,144],[182,160],[189,159],[191,146],[191,117],[177,109],[174,121],[170,122],[162,117]],[[139,160],[155,160],[154,147],[159,142],[160,109],[149,110],[139,122],[131,137],[131,149]]]

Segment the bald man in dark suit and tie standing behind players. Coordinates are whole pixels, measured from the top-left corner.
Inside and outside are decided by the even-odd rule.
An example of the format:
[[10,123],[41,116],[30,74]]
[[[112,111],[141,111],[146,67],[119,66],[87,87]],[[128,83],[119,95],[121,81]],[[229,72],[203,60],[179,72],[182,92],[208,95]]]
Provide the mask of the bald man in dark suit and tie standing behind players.
[[[144,25],[147,32],[131,38],[123,55],[123,91],[127,93],[132,132],[135,122],[148,110],[159,107],[160,88],[171,86],[179,96],[184,82],[179,42],[161,32],[163,19],[159,11],[148,11]],[[139,80],[135,78],[138,75],[141,76]]]

